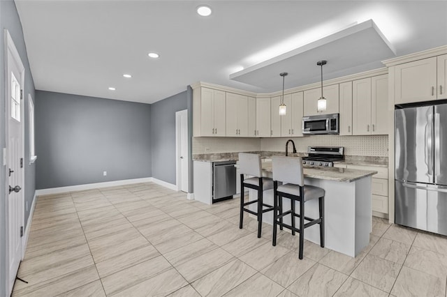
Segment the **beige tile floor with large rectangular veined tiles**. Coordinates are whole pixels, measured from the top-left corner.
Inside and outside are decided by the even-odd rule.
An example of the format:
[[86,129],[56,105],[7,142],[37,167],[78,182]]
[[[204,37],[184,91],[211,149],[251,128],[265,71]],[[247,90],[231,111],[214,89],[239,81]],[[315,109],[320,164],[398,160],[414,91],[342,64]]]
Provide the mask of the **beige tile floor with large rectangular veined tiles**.
[[[446,296],[447,238],[373,219],[356,258],[154,183],[38,197],[13,296]],[[342,226],[340,226],[342,227]]]

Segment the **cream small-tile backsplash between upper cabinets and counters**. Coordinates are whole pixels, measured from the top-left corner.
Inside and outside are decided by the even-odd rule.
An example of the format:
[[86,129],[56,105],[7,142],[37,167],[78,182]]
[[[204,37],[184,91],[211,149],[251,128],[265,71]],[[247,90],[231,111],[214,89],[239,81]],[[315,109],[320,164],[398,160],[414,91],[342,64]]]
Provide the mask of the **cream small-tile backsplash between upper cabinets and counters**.
[[[289,138],[193,137],[193,154],[285,151],[287,139]],[[290,139],[295,142],[298,153],[307,153],[307,146],[344,146],[346,155],[388,157],[388,135],[312,135]]]

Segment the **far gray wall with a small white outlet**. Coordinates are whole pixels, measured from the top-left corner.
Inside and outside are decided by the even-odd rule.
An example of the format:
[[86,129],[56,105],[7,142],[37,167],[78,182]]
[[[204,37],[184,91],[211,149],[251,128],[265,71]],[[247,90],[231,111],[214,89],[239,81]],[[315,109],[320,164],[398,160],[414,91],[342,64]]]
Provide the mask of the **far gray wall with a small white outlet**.
[[147,104],[36,91],[36,188],[152,176],[150,116]]

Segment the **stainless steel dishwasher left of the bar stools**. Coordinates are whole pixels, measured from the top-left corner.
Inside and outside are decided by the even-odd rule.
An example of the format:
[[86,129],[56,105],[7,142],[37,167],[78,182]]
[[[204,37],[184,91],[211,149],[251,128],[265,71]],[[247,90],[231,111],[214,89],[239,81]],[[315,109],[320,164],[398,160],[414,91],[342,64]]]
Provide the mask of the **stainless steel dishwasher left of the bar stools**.
[[236,161],[212,163],[212,203],[236,194]]

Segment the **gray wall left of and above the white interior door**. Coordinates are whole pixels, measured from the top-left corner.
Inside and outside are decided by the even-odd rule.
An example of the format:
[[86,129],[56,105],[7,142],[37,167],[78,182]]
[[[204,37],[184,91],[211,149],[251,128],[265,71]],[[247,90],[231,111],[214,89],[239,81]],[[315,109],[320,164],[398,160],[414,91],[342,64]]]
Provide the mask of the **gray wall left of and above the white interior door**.
[[187,91],[151,105],[152,177],[174,185],[175,112],[186,108]]

